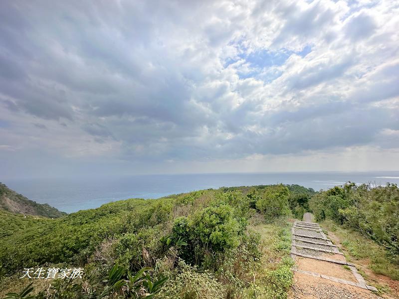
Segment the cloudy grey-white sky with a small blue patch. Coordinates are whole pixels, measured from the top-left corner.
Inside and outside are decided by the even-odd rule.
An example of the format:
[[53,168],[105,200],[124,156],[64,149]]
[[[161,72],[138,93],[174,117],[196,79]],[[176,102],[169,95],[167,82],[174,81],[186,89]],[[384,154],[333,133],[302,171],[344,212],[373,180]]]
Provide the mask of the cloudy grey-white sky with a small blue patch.
[[1,177],[399,170],[396,0],[0,1]]

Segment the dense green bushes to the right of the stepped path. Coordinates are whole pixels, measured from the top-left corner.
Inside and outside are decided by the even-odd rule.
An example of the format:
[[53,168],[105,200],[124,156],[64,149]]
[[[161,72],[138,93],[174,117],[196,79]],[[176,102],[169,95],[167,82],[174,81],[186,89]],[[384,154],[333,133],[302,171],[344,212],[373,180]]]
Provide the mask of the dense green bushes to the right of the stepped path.
[[[310,200],[316,220],[334,221],[336,225],[357,231],[386,249],[392,269],[381,268],[381,261],[375,263],[374,270],[394,279],[399,279],[399,188],[395,184],[371,187],[347,183],[315,194]],[[348,248],[356,248],[356,242],[349,240]],[[351,244],[351,245],[350,245]],[[385,253],[363,242],[371,252],[379,252],[376,258]],[[361,250],[354,250],[361,252]],[[363,255],[364,256],[364,255]],[[377,264],[381,264],[378,266]],[[388,267],[388,266],[387,266]],[[378,268],[378,269],[377,269]]]

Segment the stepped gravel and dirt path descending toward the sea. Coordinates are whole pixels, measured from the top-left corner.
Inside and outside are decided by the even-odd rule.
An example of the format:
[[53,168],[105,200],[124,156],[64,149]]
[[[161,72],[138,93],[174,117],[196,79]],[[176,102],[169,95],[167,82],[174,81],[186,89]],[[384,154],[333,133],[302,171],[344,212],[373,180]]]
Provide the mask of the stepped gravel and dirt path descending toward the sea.
[[323,233],[313,215],[292,227],[291,257],[295,260],[291,299],[378,299],[344,255]]

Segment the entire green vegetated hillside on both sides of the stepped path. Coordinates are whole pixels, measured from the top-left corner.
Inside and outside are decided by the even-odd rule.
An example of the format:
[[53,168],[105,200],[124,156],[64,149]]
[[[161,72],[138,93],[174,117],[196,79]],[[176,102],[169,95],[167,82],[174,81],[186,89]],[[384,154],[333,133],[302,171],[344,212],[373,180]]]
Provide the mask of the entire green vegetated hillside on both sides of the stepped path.
[[[331,231],[346,232],[349,217],[357,215],[349,213],[354,203],[366,213],[356,223],[367,219],[367,231],[374,233],[356,227],[355,233],[342,233],[342,246],[352,259],[369,259],[365,271],[395,284],[398,192],[396,185],[348,184],[314,192],[280,184],[121,200],[57,219],[0,211],[0,298],[23,293],[32,283],[30,298],[36,299],[286,299],[294,283],[289,217],[301,218],[310,206],[316,218],[335,221]],[[380,214],[374,219],[376,205]],[[390,230],[378,231],[382,226],[373,219]],[[39,267],[79,267],[84,275],[19,279],[24,268]],[[380,282],[374,285],[380,288]]]

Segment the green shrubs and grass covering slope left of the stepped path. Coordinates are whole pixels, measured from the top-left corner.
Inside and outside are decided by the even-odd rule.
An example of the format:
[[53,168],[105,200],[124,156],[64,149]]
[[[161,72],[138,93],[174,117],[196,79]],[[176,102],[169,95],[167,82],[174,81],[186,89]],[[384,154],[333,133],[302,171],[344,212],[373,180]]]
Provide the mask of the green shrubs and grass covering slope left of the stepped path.
[[[292,261],[281,219],[298,187],[129,199],[58,219],[2,211],[2,284],[23,268],[56,265],[84,267],[83,282],[36,286],[37,298],[284,298]],[[265,227],[272,229],[261,239],[255,230]]]

